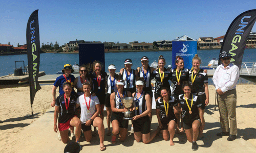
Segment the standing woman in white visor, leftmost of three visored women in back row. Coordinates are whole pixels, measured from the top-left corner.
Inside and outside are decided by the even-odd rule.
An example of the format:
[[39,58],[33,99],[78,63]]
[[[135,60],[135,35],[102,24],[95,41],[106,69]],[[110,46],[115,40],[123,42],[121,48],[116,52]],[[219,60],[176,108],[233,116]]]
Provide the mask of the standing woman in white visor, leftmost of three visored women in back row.
[[116,81],[119,79],[119,75],[116,72],[116,66],[114,64],[110,64],[109,66],[110,75],[105,78],[105,88],[106,88],[106,98],[105,98],[105,107],[106,107],[106,123],[108,124],[108,132],[106,136],[111,136],[110,131],[110,121],[111,121],[111,105],[110,105],[110,95],[113,92],[117,91],[115,86]]

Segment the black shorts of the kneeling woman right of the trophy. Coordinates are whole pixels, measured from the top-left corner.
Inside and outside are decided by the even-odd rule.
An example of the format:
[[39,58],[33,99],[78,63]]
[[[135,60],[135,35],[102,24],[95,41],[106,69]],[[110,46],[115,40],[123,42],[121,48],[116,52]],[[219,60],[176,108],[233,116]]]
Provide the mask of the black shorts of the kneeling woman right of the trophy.
[[139,119],[133,120],[134,132],[141,132],[142,134],[148,134],[151,130],[151,121],[148,115],[143,116]]

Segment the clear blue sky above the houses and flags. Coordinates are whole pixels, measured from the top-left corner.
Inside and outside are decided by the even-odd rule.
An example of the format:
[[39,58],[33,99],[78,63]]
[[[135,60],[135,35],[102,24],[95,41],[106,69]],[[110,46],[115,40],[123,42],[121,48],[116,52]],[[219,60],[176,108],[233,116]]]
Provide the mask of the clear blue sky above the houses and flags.
[[[40,43],[71,40],[129,43],[225,35],[253,1],[6,1],[0,2],[0,43],[26,43],[26,26],[36,10]],[[253,32],[256,32],[254,25]]]

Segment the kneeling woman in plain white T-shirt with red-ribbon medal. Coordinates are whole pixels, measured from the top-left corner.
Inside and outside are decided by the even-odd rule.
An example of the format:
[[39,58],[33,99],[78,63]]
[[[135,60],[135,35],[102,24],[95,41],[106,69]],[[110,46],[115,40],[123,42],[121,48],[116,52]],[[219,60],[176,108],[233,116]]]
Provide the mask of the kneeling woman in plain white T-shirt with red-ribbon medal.
[[98,127],[100,150],[105,150],[104,141],[104,125],[102,119],[98,116],[100,113],[100,103],[97,96],[92,96],[91,84],[85,82],[82,84],[84,94],[80,95],[76,101],[76,108],[81,107],[82,131],[86,141],[92,140],[92,126]]

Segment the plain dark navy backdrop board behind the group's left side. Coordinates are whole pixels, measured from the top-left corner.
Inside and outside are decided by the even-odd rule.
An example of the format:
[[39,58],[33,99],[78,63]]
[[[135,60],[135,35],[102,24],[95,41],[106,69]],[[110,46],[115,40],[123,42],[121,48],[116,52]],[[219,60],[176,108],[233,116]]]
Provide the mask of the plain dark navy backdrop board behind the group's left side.
[[78,43],[79,46],[79,65],[89,63],[93,64],[94,61],[100,61],[103,64],[101,68],[105,71],[105,53],[104,43]]

